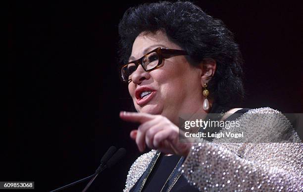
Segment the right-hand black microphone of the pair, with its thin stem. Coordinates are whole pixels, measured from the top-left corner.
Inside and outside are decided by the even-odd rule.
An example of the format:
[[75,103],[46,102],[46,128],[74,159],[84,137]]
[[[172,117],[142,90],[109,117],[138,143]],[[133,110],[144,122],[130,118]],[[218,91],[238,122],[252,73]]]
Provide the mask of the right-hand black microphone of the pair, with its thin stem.
[[[116,148],[116,147],[115,147]],[[110,149],[110,148],[109,148]],[[107,150],[107,152],[109,151],[109,149]],[[107,153],[106,152],[106,153]],[[112,151],[111,151],[112,152]],[[117,150],[117,152],[115,152],[114,155],[112,155],[112,157],[107,161],[107,163],[104,165],[104,166],[101,166],[102,165],[102,159],[101,159],[101,165],[98,167],[98,169],[96,170],[96,173],[95,173],[95,177],[91,179],[91,181],[86,185],[86,187],[82,190],[82,192],[86,192],[89,187],[92,185],[93,181],[96,179],[96,177],[98,176],[98,174],[103,171],[104,169],[106,168],[110,168],[112,167],[114,164],[116,164],[122,157],[124,157],[126,153],[126,150],[125,148],[119,148]],[[106,158],[108,157],[108,155],[106,156]],[[104,158],[105,159],[105,158]],[[100,170],[99,170],[100,169]]]

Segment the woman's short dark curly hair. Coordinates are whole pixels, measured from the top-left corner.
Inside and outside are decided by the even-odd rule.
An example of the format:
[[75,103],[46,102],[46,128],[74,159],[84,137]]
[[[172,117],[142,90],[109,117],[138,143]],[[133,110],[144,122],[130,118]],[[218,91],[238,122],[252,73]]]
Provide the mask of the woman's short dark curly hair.
[[128,8],[119,23],[119,62],[128,61],[140,33],[158,30],[189,53],[187,59],[192,65],[205,57],[216,60],[217,69],[207,87],[216,103],[234,107],[242,101],[243,59],[233,34],[221,20],[192,2],[160,1]]

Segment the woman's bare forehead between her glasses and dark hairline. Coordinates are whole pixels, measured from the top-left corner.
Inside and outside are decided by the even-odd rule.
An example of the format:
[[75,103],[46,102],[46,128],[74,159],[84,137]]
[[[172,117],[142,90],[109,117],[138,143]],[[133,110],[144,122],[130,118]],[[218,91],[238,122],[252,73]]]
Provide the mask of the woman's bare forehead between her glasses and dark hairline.
[[163,31],[157,31],[155,33],[142,32],[133,43],[132,53],[129,60],[138,59],[157,47],[180,49],[179,46],[168,39]]

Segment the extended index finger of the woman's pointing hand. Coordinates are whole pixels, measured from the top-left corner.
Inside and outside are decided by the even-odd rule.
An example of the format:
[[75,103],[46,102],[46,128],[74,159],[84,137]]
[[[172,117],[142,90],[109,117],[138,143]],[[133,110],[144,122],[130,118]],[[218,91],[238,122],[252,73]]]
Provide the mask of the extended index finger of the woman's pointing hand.
[[137,113],[137,112],[120,112],[120,118],[125,121],[136,122],[136,123],[145,123],[154,119],[156,116],[148,113]]

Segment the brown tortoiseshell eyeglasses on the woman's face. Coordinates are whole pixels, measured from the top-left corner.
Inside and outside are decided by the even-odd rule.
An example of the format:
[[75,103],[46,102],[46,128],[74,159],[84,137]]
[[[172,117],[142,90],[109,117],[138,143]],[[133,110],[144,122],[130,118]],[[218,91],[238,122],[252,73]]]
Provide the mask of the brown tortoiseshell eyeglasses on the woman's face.
[[159,67],[163,59],[168,59],[173,56],[188,55],[185,50],[170,49],[170,48],[156,48],[146,53],[138,60],[130,61],[121,67],[121,78],[124,82],[130,82],[132,74],[137,70],[138,66],[150,72]]

